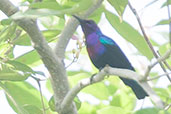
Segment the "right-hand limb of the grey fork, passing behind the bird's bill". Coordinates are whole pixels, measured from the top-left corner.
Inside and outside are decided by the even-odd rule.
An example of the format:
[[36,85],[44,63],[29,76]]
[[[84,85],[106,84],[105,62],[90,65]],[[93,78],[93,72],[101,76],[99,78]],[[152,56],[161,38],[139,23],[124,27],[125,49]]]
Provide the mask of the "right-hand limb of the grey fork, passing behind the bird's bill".
[[[102,2],[103,0],[95,0],[94,4],[79,17],[81,18],[88,17],[90,14],[92,14],[94,10],[96,10],[101,5]],[[70,38],[75,32],[78,24],[79,24],[78,21],[75,18],[71,17],[66,23],[66,26],[62,31],[61,35],[59,36],[59,40],[57,41],[57,45],[55,47],[55,53],[58,56],[58,58],[60,58],[60,60],[64,59],[66,47],[68,45]]]

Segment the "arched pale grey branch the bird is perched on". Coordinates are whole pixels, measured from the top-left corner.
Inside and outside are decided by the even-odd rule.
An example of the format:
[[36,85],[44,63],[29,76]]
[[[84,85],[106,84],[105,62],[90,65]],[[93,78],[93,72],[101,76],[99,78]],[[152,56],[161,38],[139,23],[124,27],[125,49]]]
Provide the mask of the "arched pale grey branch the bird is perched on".
[[148,93],[148,95],[150,96],[152,101],[155,103],[155,105],[159,108],[164,108],[163,101],[160,99],[160,97],[158,97],[156,95],[156,93],[152,90],[152,88],[148,85],[148,83],[143,81],[142,76],[138,75],[136,72],[134,72],[132,70],[112,68],[112,67],[106,66],[98,74],[96,74],[93,77],[93,79],[87,78],[87,79],[83,79],[80,82],[78,82],[78,84],[75,87],[73,87],[65,96],[65,98],[61,104],[61,110],[65,110],[65,108],[71,104],[74,97],[83,88],[85,88],[91,84],[94,84],[94,83],[104,80],[104,77],[106,75],[119,76],[119,77],[128,78],[128,79],[137,81],[143,87],[143,89]]

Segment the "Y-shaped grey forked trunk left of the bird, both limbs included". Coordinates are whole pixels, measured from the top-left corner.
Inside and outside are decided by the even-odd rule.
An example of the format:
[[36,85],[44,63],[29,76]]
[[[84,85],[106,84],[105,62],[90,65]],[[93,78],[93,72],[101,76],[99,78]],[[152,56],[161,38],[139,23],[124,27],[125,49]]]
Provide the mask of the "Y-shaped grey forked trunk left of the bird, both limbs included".
[[[101,5],[102,1],[103,0],[95,1],[92,7],[83,13],[81,17],[85,18],[90,15]],[[2,10],[2,12],[4,12],[8,17],[19,11],[19,9],[9,0],[0,0],[0,10]],[[62,112],[60,110],[60,104],[69,91],[66,69],[62,61],[64,59],[66,46],[78,26],[78,22],[73,18],[69,19],[55,48],[56,54],[49,47],[47,41],[39,30],[36,20],[31,18],[22,18],[15,20],[15,22],[28,33],[33,42],[33,47],[39,53],[44,65],[50,73],[56,110],[59,114],[77,114],[77,110],[73,102],[71,102],[70,105],[65,108],[65,111]]]

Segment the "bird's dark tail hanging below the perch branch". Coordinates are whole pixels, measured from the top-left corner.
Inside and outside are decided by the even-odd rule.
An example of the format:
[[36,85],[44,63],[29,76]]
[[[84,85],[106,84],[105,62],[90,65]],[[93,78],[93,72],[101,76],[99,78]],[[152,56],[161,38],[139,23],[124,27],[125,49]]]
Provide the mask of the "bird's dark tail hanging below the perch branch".
[[145,92],[145,90],[135,81],[131,79],[121,78],[121,80],[128,86],[130,86],[137,96],[138,99],[143,99],[145,96],[148,96],[148,94]]

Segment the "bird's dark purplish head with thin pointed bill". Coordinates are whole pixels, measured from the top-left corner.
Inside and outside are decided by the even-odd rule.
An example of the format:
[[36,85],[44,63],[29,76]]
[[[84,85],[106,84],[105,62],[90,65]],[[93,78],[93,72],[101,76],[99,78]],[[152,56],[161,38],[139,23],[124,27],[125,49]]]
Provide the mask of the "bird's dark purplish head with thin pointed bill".
[[91,34],[92,32],[100,31],[99,27],[93,20],[81,19],[75,15],[73,15],[73,17],[75,17],[80,22],[81,28],[85,36]]

